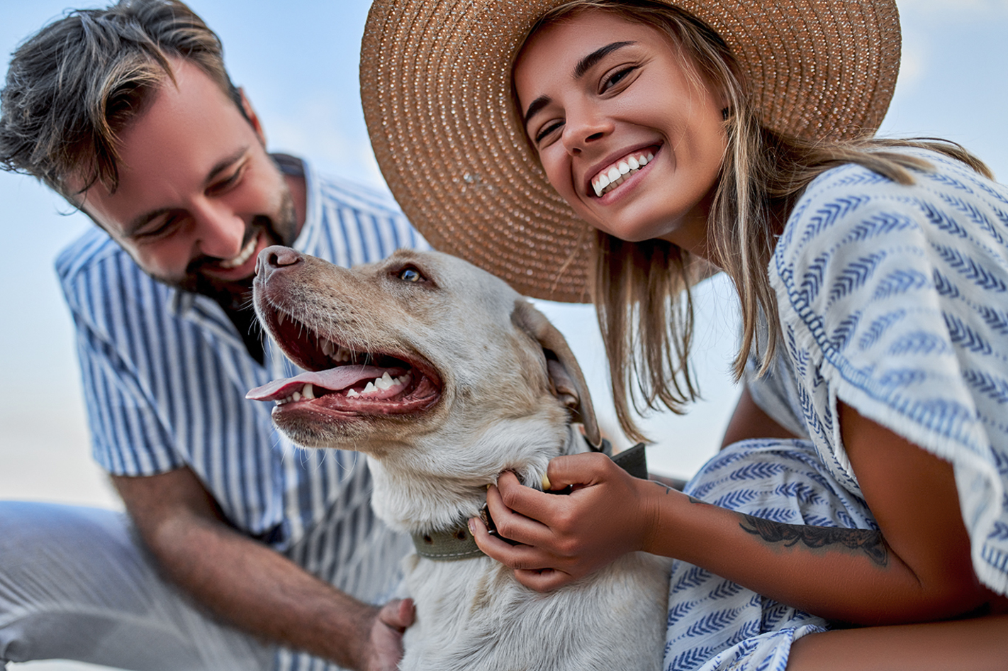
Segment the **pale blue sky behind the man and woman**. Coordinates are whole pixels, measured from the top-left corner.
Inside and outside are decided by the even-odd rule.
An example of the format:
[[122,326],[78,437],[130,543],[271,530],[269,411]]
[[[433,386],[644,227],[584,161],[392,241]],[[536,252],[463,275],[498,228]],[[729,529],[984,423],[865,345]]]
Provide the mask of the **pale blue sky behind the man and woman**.
[[[0,68],[68,0],[0,0]],[[232,79],[259,113],[269,147],[372,187],[384,183],[360,109],[357,64],[368,0],[194,0],[220,35]],[[903,64],[881,134],[940,136],[1008,179],[1008,0],[906,0]],[[91,7],[96,5],[80,5]],[[0,173],[0,497],[116,507],[89,458],[74,333],[52,270],[58,250],[92,224],[34,180]],[[698,299],[705,400],[684,417],[649,418],[651,470],[691,474],[717,448],[738,395],[729,375],[737,321],[723,281]],[[566,334],[616,432],[592,309],[540,304]],[[620,441],[617,441],[620,442]]]

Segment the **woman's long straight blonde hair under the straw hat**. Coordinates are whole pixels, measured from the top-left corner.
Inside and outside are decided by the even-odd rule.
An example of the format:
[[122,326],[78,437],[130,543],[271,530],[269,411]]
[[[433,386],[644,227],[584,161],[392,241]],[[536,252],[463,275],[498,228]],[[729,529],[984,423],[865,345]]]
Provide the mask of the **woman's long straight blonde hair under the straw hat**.
[[[776,133],[760,121],[730,48],[706,24],[668,5],[648,0],[574,0],[546,13],[530,31],[586,10],[619,14],[668,35],[691,66],[697,86],[715,87],[728,101],[727,149],[708,222],[712,261],[738,293],[742,337],[734,361],[742,375],[750,351],[768,369],[780,338],[777,303],[767,266],[775,236],[802,190],[823,172],[857,163],[899,184],[912,184],[911,170],[927,170],[900,149],[940,151],[990,177],[963,147],[931,138],[899,140],[865,133],[853,140],[809,140]],[[705,266],[664,240],[627,242],[596,232],[594,286],[599,327],[609,358],[616,414],[633,440],[645,437],[636,415],[664,406],[675,413],[699,396],[689,367],[694,310],[689,288]],[[759,328],[761,313],[767,329]]]

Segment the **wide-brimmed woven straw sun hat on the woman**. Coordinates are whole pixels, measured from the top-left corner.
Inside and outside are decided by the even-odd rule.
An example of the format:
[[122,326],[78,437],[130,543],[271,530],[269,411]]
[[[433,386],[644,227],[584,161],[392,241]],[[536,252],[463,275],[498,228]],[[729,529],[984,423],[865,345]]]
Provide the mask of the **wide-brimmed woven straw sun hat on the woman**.
[[[511,64],[562,0],[375,0],[361,97],[378,164],[437,249],[521,294],[588,295],[589,226],[553,191],[511,103]],[[770,128],[850,137],[882,122],[899,70],[893,0],[662,0],[713,27]]]

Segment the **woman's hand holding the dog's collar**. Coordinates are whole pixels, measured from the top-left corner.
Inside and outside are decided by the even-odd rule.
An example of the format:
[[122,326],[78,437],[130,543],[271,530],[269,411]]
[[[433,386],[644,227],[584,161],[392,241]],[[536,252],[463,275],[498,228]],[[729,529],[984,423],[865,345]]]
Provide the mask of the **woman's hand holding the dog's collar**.
[[510,472],[487,491],[487,505],[500,536],[480,520],[469,527],[487,555],[514,569],[526,587],[548,591],[599,570],[621,555],[645,549],[658,528],[654,495],[667,487],[632,477],[603,454],[556,457],[546,471],[553,491],[522,485]]

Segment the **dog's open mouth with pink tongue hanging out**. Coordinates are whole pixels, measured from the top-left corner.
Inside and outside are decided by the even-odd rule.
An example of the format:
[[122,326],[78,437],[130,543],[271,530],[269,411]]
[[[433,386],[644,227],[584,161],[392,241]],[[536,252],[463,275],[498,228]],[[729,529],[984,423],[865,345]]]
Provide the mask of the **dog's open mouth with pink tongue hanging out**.
[[307,372],[275,379],[245,398],[275,402],[274,413],[312,410],[339,415],[417,413],[440,398],[440,379],[422,357],[354,349],[269,308],[263,311],[266,327],[283,352]]

